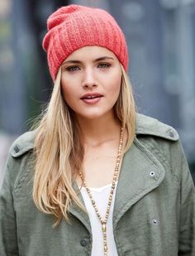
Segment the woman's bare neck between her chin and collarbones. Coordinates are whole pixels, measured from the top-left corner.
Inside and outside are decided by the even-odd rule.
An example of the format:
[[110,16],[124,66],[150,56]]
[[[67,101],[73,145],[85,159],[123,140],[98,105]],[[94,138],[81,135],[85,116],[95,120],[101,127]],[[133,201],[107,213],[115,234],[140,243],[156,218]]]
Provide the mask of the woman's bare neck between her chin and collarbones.
[[102,118],[77,118],[81,129],[83,143],[96,147],[103,142],[116,139],[120,133],[121,123],[114,116]]

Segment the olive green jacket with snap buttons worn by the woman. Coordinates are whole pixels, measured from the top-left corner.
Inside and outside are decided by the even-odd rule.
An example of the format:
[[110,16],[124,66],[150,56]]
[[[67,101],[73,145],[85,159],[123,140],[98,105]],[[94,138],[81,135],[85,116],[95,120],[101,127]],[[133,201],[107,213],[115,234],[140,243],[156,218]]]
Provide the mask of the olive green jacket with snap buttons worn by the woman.
[[[25,133],[10,149],[0,192],[0,255],[89,256],[96,241],[87,213],[72,205],[70,224],[63,220],[54,229],[54,217],[33,203],[34,137]],[[113,230],[120,256],[195,255],[195,191],[178,133],[144,115],[137,115],[136,138],[123,158]]]

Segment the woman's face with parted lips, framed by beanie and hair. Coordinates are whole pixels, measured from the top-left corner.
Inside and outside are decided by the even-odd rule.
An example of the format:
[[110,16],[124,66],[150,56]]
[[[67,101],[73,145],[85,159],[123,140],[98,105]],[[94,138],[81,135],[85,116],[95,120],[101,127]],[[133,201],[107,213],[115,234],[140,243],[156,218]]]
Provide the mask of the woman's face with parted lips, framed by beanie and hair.
[[121,88],[121,65],[112,51],[84,46],[64,60],[61,87],[66,104],[78,118],[113,114]]

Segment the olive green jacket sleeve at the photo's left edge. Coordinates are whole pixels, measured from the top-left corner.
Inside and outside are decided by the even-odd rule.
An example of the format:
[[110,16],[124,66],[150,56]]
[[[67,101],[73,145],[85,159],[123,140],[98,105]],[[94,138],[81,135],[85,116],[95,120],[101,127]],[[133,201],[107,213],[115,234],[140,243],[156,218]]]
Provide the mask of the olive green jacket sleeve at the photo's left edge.
[[14,159],[9,155],[0,189],[0,255],[19,255],[17,248],[17,224],[12,198],[16,180]]

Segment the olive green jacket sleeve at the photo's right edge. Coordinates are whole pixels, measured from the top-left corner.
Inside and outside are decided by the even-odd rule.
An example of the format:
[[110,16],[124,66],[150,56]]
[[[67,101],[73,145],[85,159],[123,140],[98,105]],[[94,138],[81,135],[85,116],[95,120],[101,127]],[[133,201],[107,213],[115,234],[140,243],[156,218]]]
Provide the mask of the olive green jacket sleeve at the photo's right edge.
[[[179,143],[178,143],[179,144]],[[195,255],[195,189],[188,162],[179,145],[176,168],[180,173],[180,220],[178,255]]]

